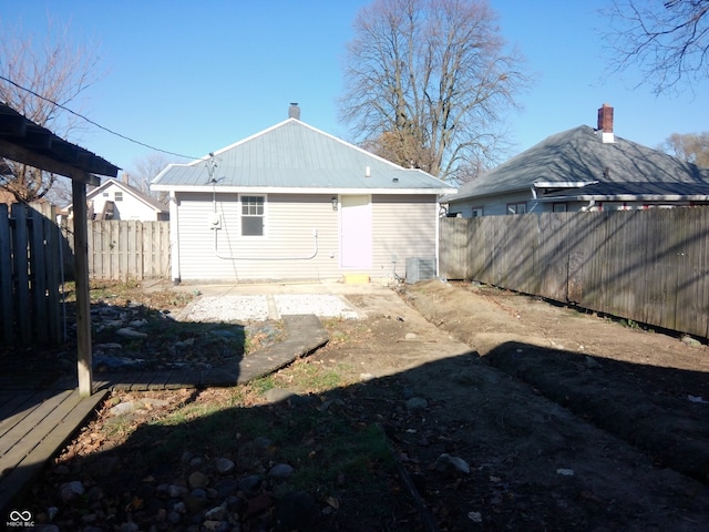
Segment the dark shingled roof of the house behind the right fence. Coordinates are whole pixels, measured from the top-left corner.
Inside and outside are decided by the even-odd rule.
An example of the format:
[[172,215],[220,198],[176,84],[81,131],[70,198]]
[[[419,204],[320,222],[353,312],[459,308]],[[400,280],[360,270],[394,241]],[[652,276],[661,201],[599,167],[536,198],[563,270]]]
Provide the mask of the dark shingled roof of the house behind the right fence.
[[593,127],[580,125],[545,139],[462,185],[450,203],[531,190],[535,183],[586,184],[558,195],[707,195],[709,168],[617,135],[615,142],[604,143]]

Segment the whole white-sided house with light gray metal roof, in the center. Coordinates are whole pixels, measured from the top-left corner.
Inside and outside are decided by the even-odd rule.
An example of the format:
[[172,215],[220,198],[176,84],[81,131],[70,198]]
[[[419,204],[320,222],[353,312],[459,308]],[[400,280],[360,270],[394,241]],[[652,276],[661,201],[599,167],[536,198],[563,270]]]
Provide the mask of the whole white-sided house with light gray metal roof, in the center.
[[439,198],[455,190],[299,120],[172,164],[173,280],[391,279],[435,268]]

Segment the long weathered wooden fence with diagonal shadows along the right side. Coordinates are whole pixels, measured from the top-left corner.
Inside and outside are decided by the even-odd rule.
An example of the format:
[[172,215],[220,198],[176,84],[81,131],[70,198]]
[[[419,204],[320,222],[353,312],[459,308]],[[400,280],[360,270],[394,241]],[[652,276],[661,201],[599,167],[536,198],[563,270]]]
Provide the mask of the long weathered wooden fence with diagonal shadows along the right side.
[[709,208],[441,221],[440,275],[709,338]]

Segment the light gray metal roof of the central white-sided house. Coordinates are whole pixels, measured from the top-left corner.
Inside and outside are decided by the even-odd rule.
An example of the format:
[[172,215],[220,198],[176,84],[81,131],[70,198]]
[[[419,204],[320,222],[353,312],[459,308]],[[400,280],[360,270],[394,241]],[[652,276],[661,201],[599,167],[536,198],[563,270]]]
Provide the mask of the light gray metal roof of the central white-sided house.
[[153,180],[152,187],[454,192],[454,187],[421,170],[402,168],[297,119],[288,119],[219,150],[214,160],[214,183],[209,175],[209,160],[205,157],[167,166]]

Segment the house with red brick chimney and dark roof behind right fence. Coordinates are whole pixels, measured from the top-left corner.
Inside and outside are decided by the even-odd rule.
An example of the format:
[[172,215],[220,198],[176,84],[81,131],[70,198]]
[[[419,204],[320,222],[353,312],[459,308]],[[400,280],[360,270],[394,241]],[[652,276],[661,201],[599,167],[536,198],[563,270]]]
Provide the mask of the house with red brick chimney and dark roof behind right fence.
[[709,168],[615,136],[613,108],[598,127],[549,136],[448,198],[449,216],[615,211],[709,204]]

